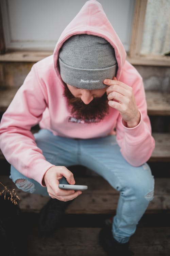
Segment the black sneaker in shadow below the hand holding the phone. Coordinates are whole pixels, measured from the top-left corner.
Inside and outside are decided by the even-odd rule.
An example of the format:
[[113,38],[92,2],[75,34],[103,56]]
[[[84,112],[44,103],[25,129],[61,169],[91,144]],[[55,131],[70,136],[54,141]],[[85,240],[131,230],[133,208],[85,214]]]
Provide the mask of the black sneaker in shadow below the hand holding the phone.
[[50,198],[39,214],[40,236],[51,235],[60,227],[63,213],[71,201],[64,202]]

